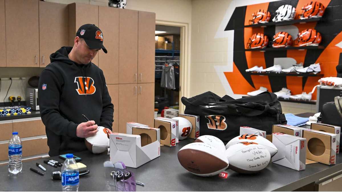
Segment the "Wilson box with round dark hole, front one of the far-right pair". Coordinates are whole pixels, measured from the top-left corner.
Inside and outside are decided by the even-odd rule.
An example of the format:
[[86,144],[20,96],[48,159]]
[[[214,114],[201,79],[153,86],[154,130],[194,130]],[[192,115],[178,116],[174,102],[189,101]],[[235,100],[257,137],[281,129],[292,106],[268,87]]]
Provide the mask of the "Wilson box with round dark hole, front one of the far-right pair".
[[306,159],[327,165],[336,164],[336,134],[306,129],[303,131],[306,138]]

